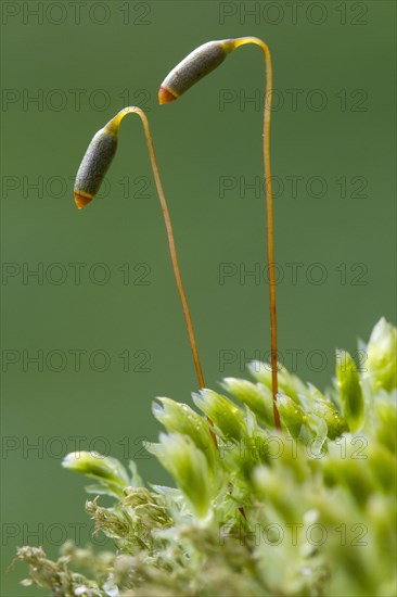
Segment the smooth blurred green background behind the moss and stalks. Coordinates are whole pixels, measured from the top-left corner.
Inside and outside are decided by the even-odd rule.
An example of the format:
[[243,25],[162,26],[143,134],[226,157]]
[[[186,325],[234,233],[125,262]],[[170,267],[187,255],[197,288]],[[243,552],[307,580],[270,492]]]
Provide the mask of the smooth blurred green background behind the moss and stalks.
[[135,458],[167,482],[140,447],[158,432],[151,402],[197,388],[141,124],[123,123],[104,196],[77,212],[92,135],[148,110],[206,384],[244,376],[269,352],[262,55],[239,50],[172,104],[156,93],[207,40],[267,41],[280,352],[325,388],[335,347],[395,322],[395,8],[2,2],[1,595],[46,595],[18,586],[22,566],[5,573],[15,546],[53,557],[66,535],[89,539],[85,482],[62,456]]

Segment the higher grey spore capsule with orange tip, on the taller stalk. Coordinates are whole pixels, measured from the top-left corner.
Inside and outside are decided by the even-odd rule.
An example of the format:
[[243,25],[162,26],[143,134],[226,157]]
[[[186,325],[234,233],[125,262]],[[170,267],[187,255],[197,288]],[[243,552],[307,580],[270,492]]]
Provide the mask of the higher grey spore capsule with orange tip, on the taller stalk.
[[158,90],[161,104],[177,100],[195,82],[219,66],[234,49],[234,40],[223,39],[203,43],[182,60],[162,82]]

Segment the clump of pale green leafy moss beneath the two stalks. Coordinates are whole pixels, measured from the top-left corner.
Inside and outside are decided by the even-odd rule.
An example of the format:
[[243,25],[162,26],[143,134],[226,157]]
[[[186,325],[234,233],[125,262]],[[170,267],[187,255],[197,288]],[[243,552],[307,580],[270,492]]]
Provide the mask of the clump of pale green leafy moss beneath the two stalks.
[[68,542],[51,561],[21,547],[23,584],[87,597],[395,595],[396,351],[397,330],[381,319],[366,370],[338,351],[329,391],[281,369],[282,432],[258,363],[252,381],[223,380],[231,397],[194,394],[198,411],[159,398],[153,414],[165,431],[145,447],[175,487],[144,485],[133,462],[69,454],[63,466],[95,482],[86,510],[115,549]]

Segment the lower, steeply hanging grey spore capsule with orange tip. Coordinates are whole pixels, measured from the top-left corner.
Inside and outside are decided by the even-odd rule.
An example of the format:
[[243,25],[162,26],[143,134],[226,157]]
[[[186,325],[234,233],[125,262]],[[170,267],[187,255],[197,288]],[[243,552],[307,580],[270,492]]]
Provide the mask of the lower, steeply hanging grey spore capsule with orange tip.
[[117,149],[117,136],[108,125],[92,138],[78,168],[75,181],[75,202],[79,209],[88,205],[101,187]]

